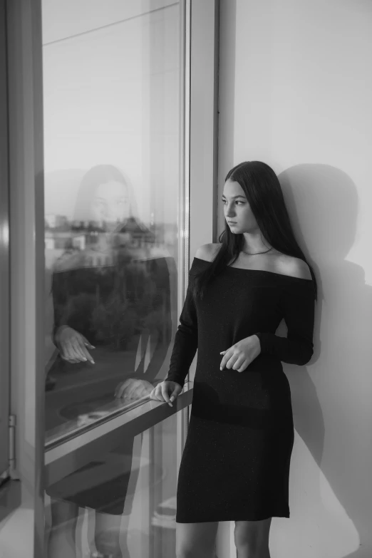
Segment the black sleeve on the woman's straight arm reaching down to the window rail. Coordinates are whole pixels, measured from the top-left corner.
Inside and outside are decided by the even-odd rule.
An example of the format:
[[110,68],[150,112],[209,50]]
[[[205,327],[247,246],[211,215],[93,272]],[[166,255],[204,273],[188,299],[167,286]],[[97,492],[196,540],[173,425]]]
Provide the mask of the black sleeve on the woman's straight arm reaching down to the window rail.
[[180,324],[175,334],[170,368],[165,380],[174,381],[183,386],[185,378],[197,351],[197,311],[192,297],[192,275],[189,274],[189,284],[185,303],[180,314]]

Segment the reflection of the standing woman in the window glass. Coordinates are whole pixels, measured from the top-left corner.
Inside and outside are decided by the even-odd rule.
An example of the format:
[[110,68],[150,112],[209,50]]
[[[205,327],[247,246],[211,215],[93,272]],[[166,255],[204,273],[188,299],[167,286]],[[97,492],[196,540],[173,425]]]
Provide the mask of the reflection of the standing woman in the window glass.
[[[58,399],[58,387],[53,397],[59,416],[77,419],[107,406],[114,395],[133,401],[153,389],[171,339],[174,265],[170,258],[152,257],[151,233],[133,216],[128,183],[111,165],[93,167],[83,177],[72,229],[70,247],[53,272],[53,339],[59,356],[51,372],[56,378],[72,373],[68,400],[65,396],[63,401],[66,389]],[[140,358],[135,351],[139,339]],[[148,343],[150,359],[148,351],[143,355]],[[47,429],[53,428],[56,416],[51,415],[49,424],[48,410],[46,416]],[[49,558],[76,557],[79,507],[95,510],[97,551],[123,556],[120,524],[128,520],[133,499],[128,482],[139,472],[131,471],[133,441],[124,440],[115,452],[97,456],[47,488]]]

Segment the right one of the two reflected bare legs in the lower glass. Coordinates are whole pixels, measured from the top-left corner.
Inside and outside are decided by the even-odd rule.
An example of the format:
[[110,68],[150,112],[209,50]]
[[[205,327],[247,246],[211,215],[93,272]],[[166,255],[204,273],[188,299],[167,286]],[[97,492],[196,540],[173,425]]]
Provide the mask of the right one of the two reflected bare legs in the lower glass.
[[122,519],[122,515],[95,512],[95,548],[105,558],[129,558],[129,554],[123,556],[119,544]]

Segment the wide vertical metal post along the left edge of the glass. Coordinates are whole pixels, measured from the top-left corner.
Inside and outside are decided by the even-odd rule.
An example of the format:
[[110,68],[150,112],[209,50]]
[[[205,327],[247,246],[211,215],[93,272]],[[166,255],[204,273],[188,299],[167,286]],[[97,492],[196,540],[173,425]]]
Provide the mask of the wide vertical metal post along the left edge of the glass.
[[[11,414],[16,467],[33,529],[27,547],[44,552],[44,207],[41,0],[7,0],[11,252]],[[32,537],[32,538],[31,538]],[[17,544],[17,541],[14,542]],[[16,551],[15,551],[16,553]],[[29,558],[26,557],[25,558]]]

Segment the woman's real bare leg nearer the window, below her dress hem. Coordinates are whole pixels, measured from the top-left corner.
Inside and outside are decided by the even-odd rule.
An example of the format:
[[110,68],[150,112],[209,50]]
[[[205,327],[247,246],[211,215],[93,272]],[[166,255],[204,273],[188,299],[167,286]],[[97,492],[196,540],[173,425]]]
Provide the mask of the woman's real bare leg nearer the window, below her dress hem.
[[177,558],[215,558],[218,521],[176,523]]

